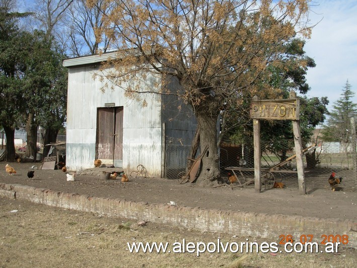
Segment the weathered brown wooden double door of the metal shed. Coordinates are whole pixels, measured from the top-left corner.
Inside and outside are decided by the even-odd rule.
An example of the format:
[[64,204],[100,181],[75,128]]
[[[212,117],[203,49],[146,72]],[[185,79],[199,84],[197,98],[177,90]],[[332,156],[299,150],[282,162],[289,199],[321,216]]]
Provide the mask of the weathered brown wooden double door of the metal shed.
[[98,108],[97,158],[107,166],[123,161],[123,107]]

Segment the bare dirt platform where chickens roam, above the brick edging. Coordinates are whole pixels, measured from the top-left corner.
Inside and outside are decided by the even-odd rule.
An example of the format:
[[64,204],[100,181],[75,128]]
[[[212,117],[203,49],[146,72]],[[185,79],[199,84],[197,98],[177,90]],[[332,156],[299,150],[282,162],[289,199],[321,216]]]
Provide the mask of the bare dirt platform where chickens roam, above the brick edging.
[[202,188],[191,183],[180,184],[178,180],[160,178],[129,178],[104,180],[101,170],[113,168],[93,168],[77,171],[75,181],[66,181],[61,170],[35,170],[32,179],[27,177],[31,166],[41,167],[41,163],[9,163],[17,173],[9,175],[5,171],[7,163],[0,163],[0,182],[29,185],[56,191],[84,195],[112,197],[136,202],[170,203],[178,206],[200,207],[230,211],[245,211],[266,214],[300,215],[304,217],[349,219],[357,222],[357,190],[353,178],[337,173],[344,180],[336,191],[331,191],[328,176],[318,171],[309,172],[306,177],[306,195],[300,195],[297,178],[283,178],[284,189],[270,189],[254,192],[254,185],[231,188],[229,185],[217,188]]

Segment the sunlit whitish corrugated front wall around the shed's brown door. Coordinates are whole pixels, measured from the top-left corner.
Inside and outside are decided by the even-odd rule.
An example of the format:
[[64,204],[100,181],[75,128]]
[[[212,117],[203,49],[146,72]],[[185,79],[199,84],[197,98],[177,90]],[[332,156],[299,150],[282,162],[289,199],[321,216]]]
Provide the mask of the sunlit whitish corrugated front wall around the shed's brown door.
[[[69,68],[67,102],[66,165],[71,170],[94,167],[96,157],[97,108],[105,103],[124,107],[123,168],[127,173],[143,165],[147,175],[159,177],[161,171],[161,98],[146,94],[142,99],[124,97],[123,89],[115,87],[103,93],[102,83],[93,80],[93,66]],[[150,77],[142,85],[152,90],[157,78]]]

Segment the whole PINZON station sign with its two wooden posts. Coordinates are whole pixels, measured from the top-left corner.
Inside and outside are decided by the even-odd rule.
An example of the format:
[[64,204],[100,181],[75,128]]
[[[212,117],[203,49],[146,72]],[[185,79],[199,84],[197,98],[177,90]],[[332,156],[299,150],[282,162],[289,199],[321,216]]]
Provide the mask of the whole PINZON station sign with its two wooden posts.
[[289,99],[284,100],[258,100],[254,96],[250,104],[250,118],[253,119],[254,139],[254,188],[261,190],[261,163],[260,163],[260,122],[259,119],[292,120],[294,143],[296,152],[296,166],[298,171],[299,193],[306,194],[304,165],[302,161],[302,142],[299,125],[299,99],[295,91],[291,91]]

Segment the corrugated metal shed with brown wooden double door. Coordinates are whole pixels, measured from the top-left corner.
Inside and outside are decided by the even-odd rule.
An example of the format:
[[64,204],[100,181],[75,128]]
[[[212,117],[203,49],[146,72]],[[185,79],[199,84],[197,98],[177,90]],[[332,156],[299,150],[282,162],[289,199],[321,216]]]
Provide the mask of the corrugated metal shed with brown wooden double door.
[[[172,95],[145,94],[144,107],[141,101],[125,97],[121,87],[101,91],[108,81],[94,80],[93,75],[100,62],[114,56],[116,52],[63,61],[68,68],[67,168],[92,168],[99,158],[129,174],[138,165],[146,168],[149,177],[182,171],[197,125],[192,110]],[[148,74],[139,86],[157,91],[160,78]],[[179,83],[172,80],[168,87],[172,92]]]

